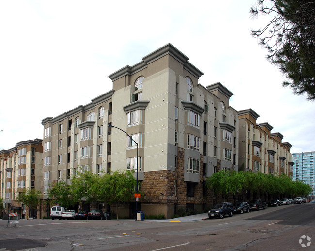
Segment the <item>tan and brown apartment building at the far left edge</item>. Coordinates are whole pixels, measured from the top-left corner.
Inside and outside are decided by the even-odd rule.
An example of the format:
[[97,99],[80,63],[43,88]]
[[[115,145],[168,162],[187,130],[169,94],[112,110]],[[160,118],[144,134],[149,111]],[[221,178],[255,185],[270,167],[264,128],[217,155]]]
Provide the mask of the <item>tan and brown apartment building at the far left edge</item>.
[[31,188],[42,191],[42,155],[41,139],[20,141],[13,148],[0,151],[0,197],[4,198],[5,213],[28,214],[28,208],[17,200],[18,193]]

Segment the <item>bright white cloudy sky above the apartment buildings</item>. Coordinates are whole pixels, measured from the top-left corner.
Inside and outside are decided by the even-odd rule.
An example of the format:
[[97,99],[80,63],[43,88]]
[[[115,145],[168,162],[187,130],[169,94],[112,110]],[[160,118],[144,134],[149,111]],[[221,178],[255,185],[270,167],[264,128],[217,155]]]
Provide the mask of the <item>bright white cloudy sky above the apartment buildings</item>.
[[42,119],[55,117],[112,89],[108,75],[167,43],[252,108],[291,152],[315,150],[315,102],[281,87],[250,30],[261,27],[256,0],[1,0],[0,150],[43,138]]

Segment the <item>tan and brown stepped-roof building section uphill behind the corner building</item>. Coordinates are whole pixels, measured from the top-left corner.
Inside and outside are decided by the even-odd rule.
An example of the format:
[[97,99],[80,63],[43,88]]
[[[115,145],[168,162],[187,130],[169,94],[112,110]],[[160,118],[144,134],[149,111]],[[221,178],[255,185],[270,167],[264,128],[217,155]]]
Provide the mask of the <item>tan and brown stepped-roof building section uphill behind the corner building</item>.
[[271,133],[268,123],[257,123],[259,115],[252,109],[238,112],[239,168],[246,171],[293,176],[292,145],[282,142],[284,136]]

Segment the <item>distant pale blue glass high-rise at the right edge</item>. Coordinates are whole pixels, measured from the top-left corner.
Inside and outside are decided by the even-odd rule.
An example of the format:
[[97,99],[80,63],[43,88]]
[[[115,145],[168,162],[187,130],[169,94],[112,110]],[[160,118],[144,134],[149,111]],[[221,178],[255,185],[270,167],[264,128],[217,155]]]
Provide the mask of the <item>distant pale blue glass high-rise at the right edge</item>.
[[310,196],[315,197],[315,152],[293,153],[293,180],[302,180],[309,184],[313,191]]

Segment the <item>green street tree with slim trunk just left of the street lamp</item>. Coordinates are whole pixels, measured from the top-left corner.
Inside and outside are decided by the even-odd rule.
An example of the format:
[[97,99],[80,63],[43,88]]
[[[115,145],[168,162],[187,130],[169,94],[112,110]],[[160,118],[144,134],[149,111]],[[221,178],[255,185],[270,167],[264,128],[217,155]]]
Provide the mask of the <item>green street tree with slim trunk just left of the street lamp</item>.
[[115,171],[112,174],[102,176],[103,198],[109,203],[116,204],[116,217],[118,220],[118,203],[130,201],[132,192],[136,185],[136,180],[133,177],[134,171],[127,170],[126,173]]

